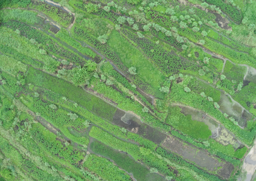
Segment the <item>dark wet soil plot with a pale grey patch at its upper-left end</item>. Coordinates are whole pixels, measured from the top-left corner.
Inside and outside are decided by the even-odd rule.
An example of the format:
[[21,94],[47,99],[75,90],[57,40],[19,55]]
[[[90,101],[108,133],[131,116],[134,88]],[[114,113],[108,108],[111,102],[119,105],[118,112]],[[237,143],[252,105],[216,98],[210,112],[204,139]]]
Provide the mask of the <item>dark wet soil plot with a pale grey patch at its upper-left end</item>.
[[125,128],[132,133],[143,136],[157,145],[159,145],[166,138],[165,134],[151,128],[145,123],[141,123],[140,120],[134,115],[120,109],[116,110],[112,123],[121,128]]

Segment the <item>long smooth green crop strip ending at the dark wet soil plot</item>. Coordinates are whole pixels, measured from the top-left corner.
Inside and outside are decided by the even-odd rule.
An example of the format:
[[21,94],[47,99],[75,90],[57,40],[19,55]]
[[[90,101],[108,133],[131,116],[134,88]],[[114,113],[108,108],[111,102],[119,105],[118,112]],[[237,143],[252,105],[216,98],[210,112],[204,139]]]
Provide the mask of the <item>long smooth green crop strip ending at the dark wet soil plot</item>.
[[86,93],[82,88],[75,87],[71,83],[53,77],[40,70],[33,68],[28,69],[26,77],[27,83],[32,83],[36,86],[44,87],[53,92],[61,94],[69,100],[85,107],[92,111],[97,116],[112,121],[116,108],[106,103],[105,101]]

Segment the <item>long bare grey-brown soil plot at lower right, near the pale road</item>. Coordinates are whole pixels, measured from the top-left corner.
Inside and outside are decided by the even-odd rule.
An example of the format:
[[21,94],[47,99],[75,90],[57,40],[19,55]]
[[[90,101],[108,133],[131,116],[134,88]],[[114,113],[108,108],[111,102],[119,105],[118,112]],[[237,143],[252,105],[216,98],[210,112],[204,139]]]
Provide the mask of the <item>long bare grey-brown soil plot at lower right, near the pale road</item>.
[[168,136],[161,145],[169,151],[180,155],[183,159],[195,163],[201,168],[205,168],[212,172],[217,171],[217,174],[223,179],[229,178],[232,170],[234,169],[232,164],[219,162],[207,152],[183,144],[181,141],[173,137]]

